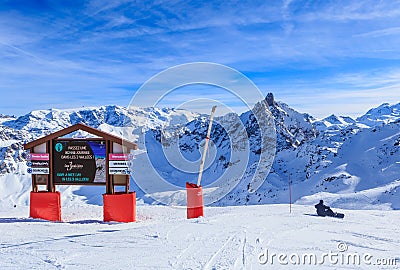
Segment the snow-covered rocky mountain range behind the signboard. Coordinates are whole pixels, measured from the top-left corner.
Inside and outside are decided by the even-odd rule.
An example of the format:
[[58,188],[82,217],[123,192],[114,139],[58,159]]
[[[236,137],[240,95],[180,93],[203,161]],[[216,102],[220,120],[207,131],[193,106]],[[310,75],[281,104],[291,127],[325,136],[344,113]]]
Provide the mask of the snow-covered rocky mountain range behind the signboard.
[[[400,103],[383,104],[357,119],[331,115],[321,120],[275,101],[272,94],[253,111],[263,110],[264,105],[268,106],[276,129],[273,153],[268,150],[275,144],[269,142],[271,138],[262,137],[260,122],[252,111],[216,118],[203,185],[212,185],[223,175],[234,185],[222,199],[213,201],[213,205],[287,203],[290,179],[292,200],[298,203],[323,198],[342,208],[400,209]],[[147,150],[157,174],[171,184],[183,189],[186,181],[194,182],[197,177],[193,168],[198,168],[201,156],[208,125],[206,115],[175,109],[128,110],[119,106],[40,110],[20,117],[1,115],[0,199],[3,203],[27,203],[30,178],[25,173],[23,143],[80,122],[119,136],[128,130],[139,148]],[[236,126],[238,123],[243,125],[243,132]],[[268,143],[261,144],[265,139]],[[247,142],[249,151],[246,157],[240,156],[238,153],[245,151]],[[176,153],[169,156],[165,152],[174,144],[184,159]],[[247,164],[242,167],[241,175],[226,175],[228,170],[239,171],[244,158]],[[260,168],[259,164],[265,165],[269,159],[273,161],[272,168],[268,164]],[[141,199],[153,202],[148,194],[140,192],[140,184],[135,183],[141,177],[149,178],[148,164],[139,157],[134,166],[140,169],[134,170],[132,188],[138,190]],[[188,169],[182,170],[182,166]],[[266,181],[252,182],[255,175],[265,176]],[[150,177],[148,182],[151,180]],[[14,182],[19,184],[11,184]],[[72,200],[101,203],[101,192],[93,195],[93,190],[99,188],[61,188],[64,203]]]

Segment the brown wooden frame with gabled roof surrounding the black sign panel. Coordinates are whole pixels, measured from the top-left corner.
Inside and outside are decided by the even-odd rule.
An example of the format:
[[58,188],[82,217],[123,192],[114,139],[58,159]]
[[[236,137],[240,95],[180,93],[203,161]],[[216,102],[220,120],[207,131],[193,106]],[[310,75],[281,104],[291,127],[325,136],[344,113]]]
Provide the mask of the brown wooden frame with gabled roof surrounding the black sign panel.
[[[72,132],[82,130],[92,135],[97,136],[96,138],[62,138]],[[53,147],[57,141],[105,141],[106,144],[106,155],[105,155],[105,183],[55,183],[54,182],[54,158],[53,158]],[[105,185],[107,194],[115,193],[115,186],[125,186],[125,193],[129,192],[129,175],[110,175],[109,174],[109,154],[114,153],[114,148],[117,147],[126,151],[136,150],[137,144],[123,140],[113,134],[100,131],[98,129],[89,127],[85,124],[75,124],[67,127],[60,131],[54,132],[32,142],[24,145],[25,150],[29,150],[31,154],[45,154],[49,155],[49,174],[39,175],[32,174],[32,191],[38,192],[39,185],[46,185],[46,190],[49,192],[56,191],[56,185]]]

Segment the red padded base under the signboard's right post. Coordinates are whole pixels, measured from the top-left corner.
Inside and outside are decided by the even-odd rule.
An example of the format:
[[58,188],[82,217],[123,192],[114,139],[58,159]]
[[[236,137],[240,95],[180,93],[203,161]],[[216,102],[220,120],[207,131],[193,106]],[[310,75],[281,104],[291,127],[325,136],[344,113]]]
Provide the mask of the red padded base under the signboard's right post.
[[104,221],[136,221],[136,192],[103,194]]

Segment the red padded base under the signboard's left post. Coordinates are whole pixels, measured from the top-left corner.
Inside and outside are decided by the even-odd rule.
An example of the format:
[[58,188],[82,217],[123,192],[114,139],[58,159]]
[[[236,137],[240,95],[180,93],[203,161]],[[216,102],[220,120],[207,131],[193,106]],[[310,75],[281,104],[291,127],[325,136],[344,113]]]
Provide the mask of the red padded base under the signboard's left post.
[[31,192],[29,216],[50,221],[61,221],[60,192]]

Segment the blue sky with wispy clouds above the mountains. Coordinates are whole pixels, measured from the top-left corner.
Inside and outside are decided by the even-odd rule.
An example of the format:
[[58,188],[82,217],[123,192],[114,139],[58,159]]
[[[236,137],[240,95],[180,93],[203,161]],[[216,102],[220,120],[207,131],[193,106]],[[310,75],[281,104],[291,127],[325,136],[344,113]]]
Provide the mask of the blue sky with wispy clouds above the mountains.
[[354,117],[400,102],[399,44],[400,1],[0,0],[0,113],[127,106],[158,72],[201,61],[301,112]]

